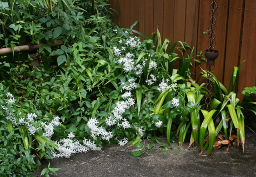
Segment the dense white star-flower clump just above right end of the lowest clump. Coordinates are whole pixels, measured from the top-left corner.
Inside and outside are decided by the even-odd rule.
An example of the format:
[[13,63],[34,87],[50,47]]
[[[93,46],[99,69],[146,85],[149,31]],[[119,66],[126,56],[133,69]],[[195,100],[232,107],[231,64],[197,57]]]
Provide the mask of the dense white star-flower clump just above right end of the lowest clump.
[[98,120],[96,118],[91,118],[88,120],[87,126],[91,129],[91,136],[93,139],[97,139],[97,136],[101,136],[102,139],[108,140],[113,138],[111,132],[107,132],[103,127],[98,127]]

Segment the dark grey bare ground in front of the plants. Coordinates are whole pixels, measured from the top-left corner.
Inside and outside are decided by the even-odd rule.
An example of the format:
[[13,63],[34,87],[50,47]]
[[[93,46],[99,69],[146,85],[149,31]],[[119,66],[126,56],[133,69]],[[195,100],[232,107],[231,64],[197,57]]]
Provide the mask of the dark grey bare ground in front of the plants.
[[[167,139],[159,139],[167,144]],[[178,143],[171,144],[177,148]],[[141,156],[132,156],[134,146],[129,147],[111,145],[104,146],[102,151],[89,151],[87,153],[74,154],[70,159],[58,158],[42,161],[43,168],[51,163],[51,168],[61,168],[58,176],[256,176],[256,135],[245,132],[245,150],[234,145],[213,148],[206,156],[208,149],[199,155],[200,148],[188,148],[189,141],[178,150],[168,147],[169,154],[163,151],[158,143],[150,143],[154,148],[148,150],[148,140],[145,151],[153,153]],[[50,176],[56,176],[49,173]],[[40,176],[36,171],[33,176]]]

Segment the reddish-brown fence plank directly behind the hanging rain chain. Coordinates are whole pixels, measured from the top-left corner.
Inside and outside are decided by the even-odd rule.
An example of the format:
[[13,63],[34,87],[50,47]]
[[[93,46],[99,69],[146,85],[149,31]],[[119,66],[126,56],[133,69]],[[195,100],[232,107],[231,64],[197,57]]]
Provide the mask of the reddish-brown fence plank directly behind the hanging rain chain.
[[[223,69],[224,69],[224,57],[225,57],[225,39],[227,34],[227,15],[228,15],[228,0],[218,1],[219,8],[218,17],[216,18],[216,45],[215,50],[219,51],[219,57],[215,60],[215,68],[213,70],[214,75],[218,78],[218,80],[223,83]],[[208,39],[209,36],[207,34],[203,34],[204,31],[207,31],[208,26],[210,24],[210,3],[209,1],[200,1],[200,9],[199,9],[199,28],[198,28],[198,48],[197,52],[202,50],[204,55],[204,50],[208,49]],[[201,64],[203,69],[206,69],[206,64]],[[197,74],[200,73],[200,68],[197,67]]]

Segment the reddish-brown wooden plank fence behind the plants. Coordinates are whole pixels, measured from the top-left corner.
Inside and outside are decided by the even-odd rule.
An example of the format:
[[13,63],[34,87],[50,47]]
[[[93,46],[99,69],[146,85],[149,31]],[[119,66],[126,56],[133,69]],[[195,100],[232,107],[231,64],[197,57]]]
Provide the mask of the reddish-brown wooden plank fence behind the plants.
[[[195,55],[208,48],[207,31],[210,21],[210,0],[117,0],[110,1],[111,8],[119,13],[122,28],[129,28],[139,21],[133,29],[150,36],[159,32],[162,39],[187,42],[194,47]],[[218,1],[216,46],[219,57],[213,70],[216,77],[229,87],[233,67],[240,69],[239,92],[245,87],[256,84],[256,62],[254,49],[256,39],[256,1],[255,0],[220,0]],[[113,11],[113,21],[118,23],[117,13]],[[144,38],[142,38],[144,39]],[[188,51],[189,52],[189,51]],[[199,75],[200,68],[193,62],[192,72]],[[205,64],[202,65],[205,69]],[[241,94],[238,95],[241,98]]]

